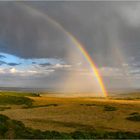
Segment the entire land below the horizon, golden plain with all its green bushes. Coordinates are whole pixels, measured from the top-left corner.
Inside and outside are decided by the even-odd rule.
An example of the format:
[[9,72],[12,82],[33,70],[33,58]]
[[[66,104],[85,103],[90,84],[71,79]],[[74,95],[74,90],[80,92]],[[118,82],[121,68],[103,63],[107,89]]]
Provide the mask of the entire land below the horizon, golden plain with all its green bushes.
[[140,138],[139,93],[131,94],[94,98],[2,91],[0,138]]

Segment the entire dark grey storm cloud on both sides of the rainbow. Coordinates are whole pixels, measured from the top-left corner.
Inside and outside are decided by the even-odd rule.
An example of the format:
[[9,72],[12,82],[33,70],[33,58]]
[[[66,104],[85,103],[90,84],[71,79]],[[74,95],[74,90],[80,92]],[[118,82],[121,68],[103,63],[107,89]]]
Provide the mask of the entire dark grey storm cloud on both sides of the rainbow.
[[[2,52],[25,59],[67,57],[70,47],[66,34],[36,12],[26,9],[24,5],[49,15],[60,23],[84,45],[100,67],[121,66],[123,62],[115,50],[116,47],[126,60],[129,56],[139,55],[140,28],[136,24],[132,25],[138,22],[133,18],[135,9],[139,9],[136,7],[138,2],[101,1],[1,2]],[[131,19],[134,22],[131,23]]]

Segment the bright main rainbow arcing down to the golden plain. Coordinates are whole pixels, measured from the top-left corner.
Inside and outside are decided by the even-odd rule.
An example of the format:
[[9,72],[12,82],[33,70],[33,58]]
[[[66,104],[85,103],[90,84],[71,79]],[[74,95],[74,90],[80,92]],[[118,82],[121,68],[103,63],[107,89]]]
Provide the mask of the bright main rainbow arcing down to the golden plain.
[[[19,4],[18,6],[21,6],[21,5]],[[63,31],[71,39],[71,41],[80,50],[80,52],[83,54],[83,56],[87,60],[88,64],[90,65],[90,67],[91,67],[91,69],[93,71],[93,76],[96,77],[96,79],[98,81],[98,84],[100,86],[100,89],[102,91],[103,96],[107,97],[107,91],[106,91],[105,85],[103,83],[102,77],[101,77],[101,75],[100,75],[100,73],[98,71],[98,68],[96,67],[95,63],[93,62],[93,60],[91,59],[90,55],[85,50],[85,48],[82,46],[82,44],[70,32],[65,30],[64,27],[61,24],[59,24],[57,21],[55,21],[54,19],[49,17],[47,14],[44,14],[44,13],[42,13],[42,12],[40,12],[40,11],[30,7],[30,6],[27,6],[27,5],[23,4],[23,3],[22,3],[22,7],[26,8],[27,11],[30,11],[32,14],[36,14],[36,15],[38,15],[40,17],[43,17],[44,19],[46,19],[47,21],[52,23],[55,27],[57,27],[58,29]]]

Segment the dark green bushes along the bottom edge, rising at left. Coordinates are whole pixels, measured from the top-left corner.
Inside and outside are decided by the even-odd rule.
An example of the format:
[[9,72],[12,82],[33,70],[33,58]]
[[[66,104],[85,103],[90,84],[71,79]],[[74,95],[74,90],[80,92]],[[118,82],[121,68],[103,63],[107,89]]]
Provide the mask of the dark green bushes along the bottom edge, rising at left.
[[26,127],[22,122],[0,115],[0,138],[2,139],[139,139],[140,133],[132,132],[83,132],[71,133],[40,131]]

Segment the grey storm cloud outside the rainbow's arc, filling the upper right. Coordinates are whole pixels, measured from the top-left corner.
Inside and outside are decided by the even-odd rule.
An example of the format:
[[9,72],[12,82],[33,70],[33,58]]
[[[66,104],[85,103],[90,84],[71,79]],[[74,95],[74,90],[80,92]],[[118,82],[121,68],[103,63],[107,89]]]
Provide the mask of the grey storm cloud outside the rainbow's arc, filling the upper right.
[[[135,26],[137,20],[133,20],[133,17],[139,18],[135,13],[139,2],[48,2],[46,5],[36,2],[31,5],[73,34],[98,66],[121,65],[115,47],[126,60],[127,55],[139,55],[140,28]],[[133,20],[134,26],[125,17]]]

